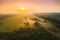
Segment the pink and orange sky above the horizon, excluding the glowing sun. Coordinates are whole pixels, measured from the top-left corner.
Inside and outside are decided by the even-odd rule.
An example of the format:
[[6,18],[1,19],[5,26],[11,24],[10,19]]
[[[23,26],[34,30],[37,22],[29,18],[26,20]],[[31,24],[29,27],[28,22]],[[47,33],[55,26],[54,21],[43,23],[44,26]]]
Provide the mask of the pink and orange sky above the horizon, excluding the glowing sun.
[[60,12],[60,0],[0,0],[0,12],[18,13],[21,7],[29,12]]

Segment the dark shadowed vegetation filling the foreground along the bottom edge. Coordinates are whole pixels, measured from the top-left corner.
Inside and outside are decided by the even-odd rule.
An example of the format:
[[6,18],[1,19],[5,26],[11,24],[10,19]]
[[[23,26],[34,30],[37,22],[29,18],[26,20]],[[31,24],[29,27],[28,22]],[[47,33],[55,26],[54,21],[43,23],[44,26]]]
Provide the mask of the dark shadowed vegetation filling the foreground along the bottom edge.
[[34,23],[34,28],[20,28],[13,32],[0,32],[0,40],[60,40],[56,36],[46,31],[38,22]]

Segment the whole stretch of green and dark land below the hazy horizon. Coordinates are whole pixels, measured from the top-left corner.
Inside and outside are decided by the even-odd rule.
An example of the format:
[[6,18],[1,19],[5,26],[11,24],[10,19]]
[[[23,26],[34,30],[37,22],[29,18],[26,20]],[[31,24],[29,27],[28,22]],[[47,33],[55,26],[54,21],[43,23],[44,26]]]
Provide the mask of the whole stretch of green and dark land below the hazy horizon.
[[60,13],[0,14],[0,40],[60,40]]

